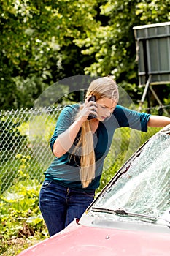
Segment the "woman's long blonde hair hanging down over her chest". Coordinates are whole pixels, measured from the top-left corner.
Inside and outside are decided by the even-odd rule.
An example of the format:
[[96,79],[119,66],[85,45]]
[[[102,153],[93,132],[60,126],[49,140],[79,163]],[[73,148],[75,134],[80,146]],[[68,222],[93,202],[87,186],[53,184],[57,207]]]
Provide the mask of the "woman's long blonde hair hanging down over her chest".
[[[110,77],[97,78],[96,80],[93,80],[88,87],[86,97],[89,95],[94,95],[96,97],[96,101],[101,98],[109,98],[113,99],[117,103],[119,99],[117,84]],[[79,113],[77,114],[77,117],[78,116]],[[90,121],[85,121],[81,128],[80,140],[75,147],[75,151],[81,147],[80,180],[82,182],[82,187],[85,188],[88,187],[93,178],[95,178],[96,159]]]

